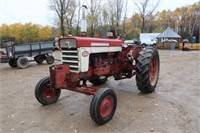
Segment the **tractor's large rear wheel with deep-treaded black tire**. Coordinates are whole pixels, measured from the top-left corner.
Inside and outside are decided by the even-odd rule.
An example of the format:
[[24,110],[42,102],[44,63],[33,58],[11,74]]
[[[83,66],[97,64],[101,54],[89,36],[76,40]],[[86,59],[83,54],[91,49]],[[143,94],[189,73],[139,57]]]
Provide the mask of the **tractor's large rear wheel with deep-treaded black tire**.
[[136,82],[143,93],[155,90],[160,70],[159,54],[155,47],[147,46],[139,53],[136,62]]

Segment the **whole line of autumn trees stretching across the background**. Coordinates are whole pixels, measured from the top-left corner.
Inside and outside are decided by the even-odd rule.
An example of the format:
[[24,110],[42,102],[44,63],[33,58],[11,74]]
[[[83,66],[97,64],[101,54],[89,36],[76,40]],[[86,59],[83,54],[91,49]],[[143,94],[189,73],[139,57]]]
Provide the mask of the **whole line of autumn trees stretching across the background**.
[[[129,4],[136,13],[127,18]],[[82,5],[87,5],[87,36],[98,37],[101,31],[122,30],[127,36],[139,38],[140,33],[161,33],[171,27],[183,39],[200,36],[200,2],[174,11],[155,12],[160,0],[49,0],[55,12],[55,27],[27,24],[3,24],[1,38],[15,37],[16,43],[53,40],[68,34],[80,36]]]

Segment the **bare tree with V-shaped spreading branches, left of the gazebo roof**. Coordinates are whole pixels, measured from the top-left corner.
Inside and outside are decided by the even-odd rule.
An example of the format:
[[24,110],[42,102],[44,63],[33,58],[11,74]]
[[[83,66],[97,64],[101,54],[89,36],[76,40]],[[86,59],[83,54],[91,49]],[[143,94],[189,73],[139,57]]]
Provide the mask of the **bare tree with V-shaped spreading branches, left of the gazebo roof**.
[[142,18],[142,33],[145,32],[145,26],[149,16],[153,14],[153,12],[158,7],[160,0],[156,0],[155,3],[152,3],[152,0],[133,0],[134,4],[139,10],[139,13]]

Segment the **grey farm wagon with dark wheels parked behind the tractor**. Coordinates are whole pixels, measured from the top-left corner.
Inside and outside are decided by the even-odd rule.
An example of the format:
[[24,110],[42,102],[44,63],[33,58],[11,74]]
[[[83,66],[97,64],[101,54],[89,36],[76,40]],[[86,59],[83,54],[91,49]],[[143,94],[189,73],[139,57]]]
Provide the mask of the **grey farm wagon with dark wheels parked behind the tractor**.
[[8,64],[11,67],[21,69],[29,66],[29,58],[34,57],[34,61],[41,64],[46,60],[47,64],[54,63],[52,56],[53,42],[37,42],[23,45],[11,45],[6,47]]

